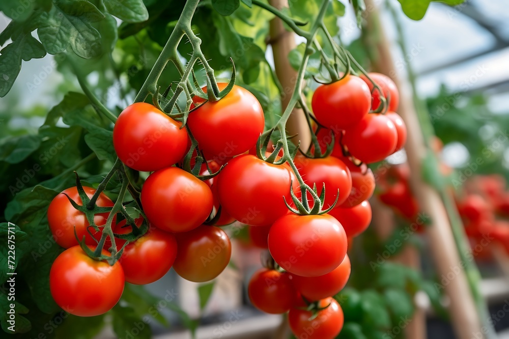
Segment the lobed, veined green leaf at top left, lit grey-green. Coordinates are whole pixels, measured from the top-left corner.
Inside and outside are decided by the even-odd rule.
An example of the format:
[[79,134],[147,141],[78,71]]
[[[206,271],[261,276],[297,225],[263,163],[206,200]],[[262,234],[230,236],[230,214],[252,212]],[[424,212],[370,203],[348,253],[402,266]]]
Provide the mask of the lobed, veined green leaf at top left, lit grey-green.
[[50,54],[61,53],[70,45],[81,58],[101,53],[101,35],[91,22],[104,19],[97,7],[86,0],[57,0],[39,19],[37,34]]

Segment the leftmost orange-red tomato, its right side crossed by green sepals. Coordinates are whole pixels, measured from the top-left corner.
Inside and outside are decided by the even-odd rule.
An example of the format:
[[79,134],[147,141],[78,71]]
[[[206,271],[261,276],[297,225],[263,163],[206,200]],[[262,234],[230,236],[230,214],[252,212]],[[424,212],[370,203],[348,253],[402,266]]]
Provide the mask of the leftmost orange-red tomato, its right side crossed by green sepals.
[[[83,190],[87,193],[89,198],[91,198],[96,191],[92,187],[83,187]],[[84,236],[86,244],[97,245],[97,242],[87,231],[87,228],[89,227],[87,217],[71,205],[69,199],[67,199],[67,196],[64,193],[69,195],[69,197],[78,205],[83,204],[76,186],[65,189],[62,193],[53,198],[48,207],[48,224],[56,243],[64,248],[76,246],[78,244],[74,235],[74,230],[76,230],[76,234],[80,240],[83,239]],[[99,195],[96,204],[101,207],[111,207],[114,205],[109,197],[102,192]],[[94,223],[99,227],[103,226],[106,223],[108,215],[109,213],[96,214],[94,216]],[[112,224],[115,224],[115,218],[116,217],[114,217]],[[96,232],[92,228],[90,228],[90,231],[94,234],[94,238],[97,240],[101,238],[101,231]]]

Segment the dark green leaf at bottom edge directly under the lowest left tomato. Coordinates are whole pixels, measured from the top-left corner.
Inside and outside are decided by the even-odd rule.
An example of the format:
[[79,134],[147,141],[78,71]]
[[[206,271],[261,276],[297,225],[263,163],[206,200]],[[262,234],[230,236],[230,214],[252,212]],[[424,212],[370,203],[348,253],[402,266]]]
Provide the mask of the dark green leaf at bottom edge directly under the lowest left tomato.
[[95,338],[104,328],[104,315],[96,317],[77,317],[66,314],[64,322],[56,327],[55,339],[90,339]]

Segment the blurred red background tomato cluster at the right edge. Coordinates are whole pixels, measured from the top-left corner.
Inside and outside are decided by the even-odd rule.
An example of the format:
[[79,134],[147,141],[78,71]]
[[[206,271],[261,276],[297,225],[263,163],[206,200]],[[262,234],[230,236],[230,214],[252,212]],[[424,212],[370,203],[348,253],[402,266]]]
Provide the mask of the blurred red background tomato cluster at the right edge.
[[498,175],[474,176],[457,199],[475,255],[489,255],[494,243],[509,253],[509,191],[505,187],[504,178]]

